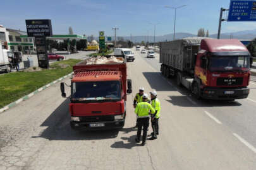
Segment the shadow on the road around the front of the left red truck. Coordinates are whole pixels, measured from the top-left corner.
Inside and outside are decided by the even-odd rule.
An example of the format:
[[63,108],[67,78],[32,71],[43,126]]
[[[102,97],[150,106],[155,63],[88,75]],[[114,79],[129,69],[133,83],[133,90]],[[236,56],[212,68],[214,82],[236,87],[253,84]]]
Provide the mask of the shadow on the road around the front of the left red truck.
[[118,136],[118,130],[76,131],[71,129],[69,103],[70,99],[66,99],[51,113],[41,125],[47,128],[37,137],[48,140],[101,140]]

